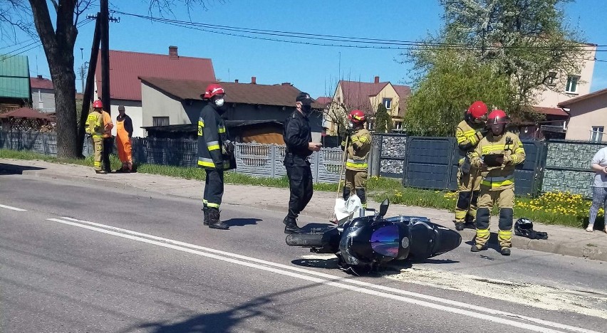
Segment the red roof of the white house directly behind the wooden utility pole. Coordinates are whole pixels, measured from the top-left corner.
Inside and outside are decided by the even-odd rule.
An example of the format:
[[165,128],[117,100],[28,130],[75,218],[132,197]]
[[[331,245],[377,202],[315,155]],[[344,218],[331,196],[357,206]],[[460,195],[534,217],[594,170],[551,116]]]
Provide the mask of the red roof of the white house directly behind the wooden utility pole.
[[[101,96],[101,57],[97,59],[95,80]],[[141,100],[140,76],[182,80],[214,81],[209,58],[110,50],[110,97],[115,100]]]

